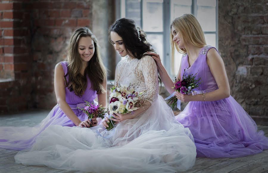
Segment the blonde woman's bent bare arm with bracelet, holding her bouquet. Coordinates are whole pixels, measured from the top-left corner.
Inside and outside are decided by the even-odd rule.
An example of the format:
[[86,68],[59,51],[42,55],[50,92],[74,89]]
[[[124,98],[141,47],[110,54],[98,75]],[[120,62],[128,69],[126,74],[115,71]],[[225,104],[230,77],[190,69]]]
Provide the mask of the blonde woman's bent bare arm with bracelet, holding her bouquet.
[[195,96],[181,94],[176,92],[176,96],[181,101],[216,101],[220,99],[225,99],[230,96],[230,86],[225,71],[225,66],[222,57],[216,51],[216,49],[210,49],[207,54],[207,64],[210,68],[211,74],[213,75],[216,83],[218,85],[217,90],[205,93],[205,100],[202,94],[197,94]]

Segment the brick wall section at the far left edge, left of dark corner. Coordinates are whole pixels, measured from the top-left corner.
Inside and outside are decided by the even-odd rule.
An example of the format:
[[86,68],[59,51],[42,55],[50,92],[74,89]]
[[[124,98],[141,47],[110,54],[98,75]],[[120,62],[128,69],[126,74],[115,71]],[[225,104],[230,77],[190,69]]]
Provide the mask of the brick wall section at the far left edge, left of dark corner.
[[25,110],[31,102],[31,22],[24,5],[20,1],[0,3],[0,78],[10,79],[0,83],[1,112]]

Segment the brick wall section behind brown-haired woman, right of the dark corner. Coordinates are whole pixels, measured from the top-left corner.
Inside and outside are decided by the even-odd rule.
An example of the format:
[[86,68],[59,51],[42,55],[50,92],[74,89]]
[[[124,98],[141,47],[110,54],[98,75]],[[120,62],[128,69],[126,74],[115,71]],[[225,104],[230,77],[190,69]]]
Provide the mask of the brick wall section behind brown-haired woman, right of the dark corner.
[[33,107],[51,108],[56,102],[54,67],[67,59],[71,33],[91,29],[91,1],[38,1],[33,3]]

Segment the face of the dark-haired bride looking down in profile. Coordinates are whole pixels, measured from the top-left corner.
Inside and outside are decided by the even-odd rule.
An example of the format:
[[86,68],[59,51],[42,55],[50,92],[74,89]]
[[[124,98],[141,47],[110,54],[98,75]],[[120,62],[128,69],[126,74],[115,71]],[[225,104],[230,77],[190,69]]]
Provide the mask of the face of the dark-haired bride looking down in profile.
[[121,57],[127,56],[127,50],[124,46],[122,37],[113,31],[111,32],[110,36],[114,49],[120,54]]

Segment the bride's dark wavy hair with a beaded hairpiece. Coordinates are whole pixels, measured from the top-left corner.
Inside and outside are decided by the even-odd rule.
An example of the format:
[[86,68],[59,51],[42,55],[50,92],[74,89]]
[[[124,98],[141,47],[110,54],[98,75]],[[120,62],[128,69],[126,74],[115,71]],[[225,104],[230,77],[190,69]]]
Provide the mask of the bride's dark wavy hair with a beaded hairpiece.
[[[139,30],[139,31],[138,31]],[[135,58],[141,59],[145,52],[154,52],[152,45],[147,42],[146,34],[142,29],[136,27],[135,21],[128,18],[121,18],[115,21],[109,29],[109,41],[111,42],[111,32],[116,32],[122,37],[127,54],[132,54]],[[140,33],[140,38],[138,32]],[[149,55],[151,56],[151,55]]]

